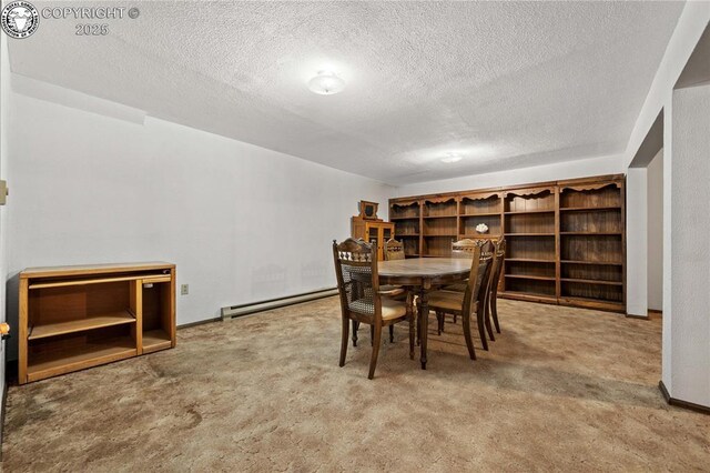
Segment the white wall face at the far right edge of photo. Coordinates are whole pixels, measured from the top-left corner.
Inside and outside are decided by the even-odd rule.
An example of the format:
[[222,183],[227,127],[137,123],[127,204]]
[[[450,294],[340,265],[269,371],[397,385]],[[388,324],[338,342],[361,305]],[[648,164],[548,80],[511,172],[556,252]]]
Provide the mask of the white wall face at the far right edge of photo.
[[710,406],[710,85],[673,92],[673,397]]

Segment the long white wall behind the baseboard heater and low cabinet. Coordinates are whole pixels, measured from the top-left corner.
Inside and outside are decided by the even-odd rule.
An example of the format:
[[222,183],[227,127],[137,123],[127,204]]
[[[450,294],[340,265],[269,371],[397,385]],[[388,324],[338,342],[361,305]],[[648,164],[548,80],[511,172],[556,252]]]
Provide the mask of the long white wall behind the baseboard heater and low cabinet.
[[174,262],[178,284],[190,284],[189,295],[178,295],[179,324],[219,316],[225,305],[334,286],[332,240],[349,235],[361,199],[383,203],[386,219],[394,193],[151,118],[140,124],[17,93],[11,113],[10,274]]

